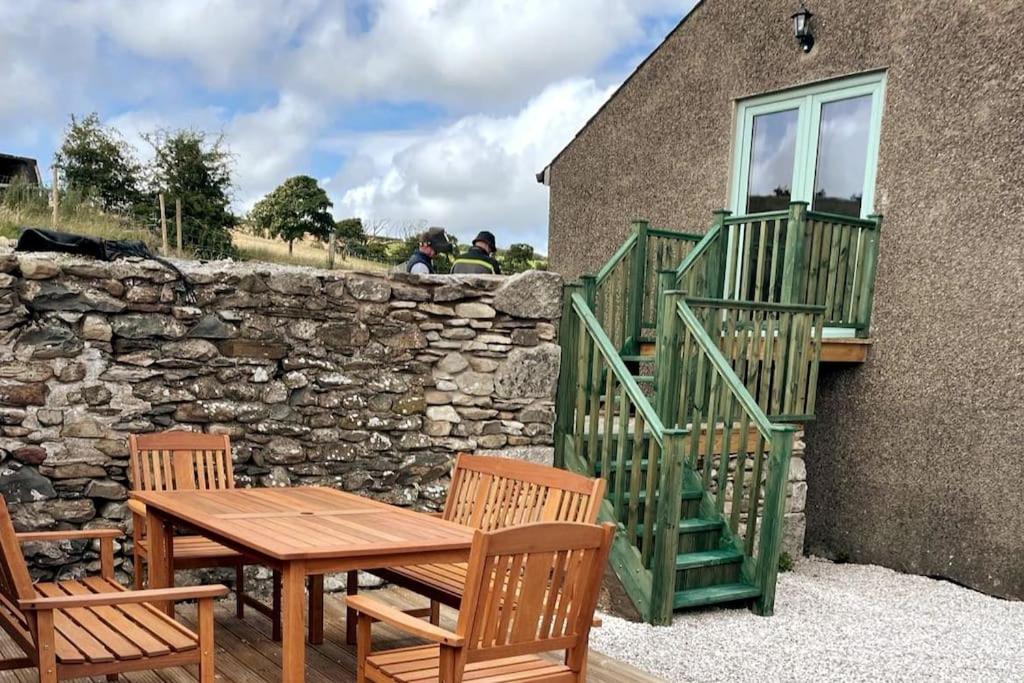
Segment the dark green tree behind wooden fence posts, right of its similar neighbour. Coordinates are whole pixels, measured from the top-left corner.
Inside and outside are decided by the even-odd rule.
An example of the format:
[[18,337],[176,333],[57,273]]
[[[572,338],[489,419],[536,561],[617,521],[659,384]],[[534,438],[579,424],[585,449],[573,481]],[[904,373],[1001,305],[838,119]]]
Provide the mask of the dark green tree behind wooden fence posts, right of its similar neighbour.
[[157,193],[164,193],[173,211],[181,201],[185,246],[201,258],[234,256],[231,228],[239,223],[231,212],[231,154],[222,137],[210,140],[195,130],[159,130],[144,135],[153,146],[147,202],[156,224]]

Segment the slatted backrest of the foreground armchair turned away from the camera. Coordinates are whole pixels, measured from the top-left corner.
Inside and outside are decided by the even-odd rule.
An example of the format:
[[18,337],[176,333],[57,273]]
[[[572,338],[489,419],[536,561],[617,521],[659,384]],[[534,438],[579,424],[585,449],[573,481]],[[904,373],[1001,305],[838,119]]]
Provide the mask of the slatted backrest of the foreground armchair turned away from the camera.
[[568,522],[477,530],[457,627],[465,664],[564,649],[579,671],[614,532]]

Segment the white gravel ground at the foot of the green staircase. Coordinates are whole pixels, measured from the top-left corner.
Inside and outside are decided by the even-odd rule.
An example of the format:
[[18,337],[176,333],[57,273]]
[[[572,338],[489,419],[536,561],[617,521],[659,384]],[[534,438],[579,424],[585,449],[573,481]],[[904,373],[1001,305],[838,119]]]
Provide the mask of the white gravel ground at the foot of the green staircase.
[[883,567],[797,563],[775,615],[604,616],[591,646],[669,681],[1024,681],[1024,602]]

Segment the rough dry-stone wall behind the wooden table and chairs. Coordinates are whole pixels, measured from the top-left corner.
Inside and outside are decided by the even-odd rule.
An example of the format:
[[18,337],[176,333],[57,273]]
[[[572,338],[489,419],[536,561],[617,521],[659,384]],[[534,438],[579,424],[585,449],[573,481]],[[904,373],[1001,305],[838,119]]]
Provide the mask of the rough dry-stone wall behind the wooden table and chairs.
[[[191,295],[153,261],[0,252],[0,493],[18,529],[129,524],[133,432],[229,434],[242,486],[420,508],[441,505],[459,452],[551,444],[557,274],[178,265]],[[96,564],[87,543],[27,553],[41,575]]]

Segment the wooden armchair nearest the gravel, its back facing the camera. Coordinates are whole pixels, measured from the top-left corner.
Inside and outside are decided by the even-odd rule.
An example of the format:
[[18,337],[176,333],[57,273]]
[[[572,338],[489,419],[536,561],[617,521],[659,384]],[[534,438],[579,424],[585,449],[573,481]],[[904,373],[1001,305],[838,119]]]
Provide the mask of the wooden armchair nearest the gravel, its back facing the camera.
[[[586,681],[587,646],[613,524],[563,522],[476,531],[455,632],[368,596],[358,613],[356,681]],[[434,644],[374,652],[383,622]],[[564,650],[564,664],[541,656]]]

